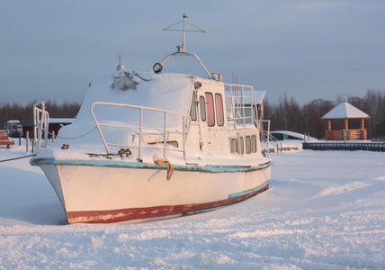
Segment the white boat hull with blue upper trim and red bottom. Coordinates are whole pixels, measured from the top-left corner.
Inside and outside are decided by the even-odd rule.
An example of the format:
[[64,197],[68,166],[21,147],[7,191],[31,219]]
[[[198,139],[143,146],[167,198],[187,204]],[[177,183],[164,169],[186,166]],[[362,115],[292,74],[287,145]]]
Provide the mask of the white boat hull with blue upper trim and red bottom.
[[[34,163],[34,162],[32,162]],[[62,202],[68,223],[138,220],[201,211],[243,201],[269,187],[270,165],[214,170],[175,167],[38,165]]]

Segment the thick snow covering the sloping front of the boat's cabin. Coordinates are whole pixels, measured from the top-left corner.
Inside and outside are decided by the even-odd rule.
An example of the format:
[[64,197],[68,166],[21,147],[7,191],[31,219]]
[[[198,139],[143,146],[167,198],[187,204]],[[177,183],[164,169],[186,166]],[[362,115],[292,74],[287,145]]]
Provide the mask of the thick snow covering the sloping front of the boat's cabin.
[[[121,90],[113,88],[111,74],[102,74],[92,81],[77,112],[75,121],[60,129],[65,137],[85,133],[94,127],[91,106],[94,102],[124,103],[163,109],[172,112],[189,113],[193,93],[193,77],[183,74],[152,74],[140,73],[145,80],[140,80],[135,89]],[[116,106],[96,105],[94,114],[99,122],[116,124],[139,124],[139,109],[122,108]],[[143,125],[157,127],[164,121],[164,114],[160,112],[143,112]],[[167,115],[167,128],[182,126],[180,116]],[[60,135],[60,136],[61,136]]]

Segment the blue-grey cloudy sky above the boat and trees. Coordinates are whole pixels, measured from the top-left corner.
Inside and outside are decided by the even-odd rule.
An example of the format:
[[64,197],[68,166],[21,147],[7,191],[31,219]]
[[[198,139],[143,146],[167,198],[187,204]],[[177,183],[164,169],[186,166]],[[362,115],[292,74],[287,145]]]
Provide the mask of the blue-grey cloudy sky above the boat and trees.
[[[207,31],[188,33],[187,50],[270,101],[385,91],[385,1],[1,0],[0,103],[81,101],[93,77],[113,74],[118,53],[127,69],[148,71],[181,43],[162,29],[184,12]],[[176,58],[165,71],[193,65]]]

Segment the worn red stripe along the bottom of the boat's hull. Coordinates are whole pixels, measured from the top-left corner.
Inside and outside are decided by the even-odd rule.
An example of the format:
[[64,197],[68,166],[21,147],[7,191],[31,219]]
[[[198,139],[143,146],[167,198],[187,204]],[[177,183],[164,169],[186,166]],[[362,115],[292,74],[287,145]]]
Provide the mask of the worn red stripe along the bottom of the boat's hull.
[[257,193],[264,192],[268,188],[269,184],[265,185],[263,188],[253,193],[248,193],[242,196],[220,200],[216,202],[203,202],[180,205],[161,205],[144,208],[128,208],[104,211],[68,211],[67,221],[68,223],[108,223],[125,220],[141,220],[192,211],[200,211],[227,205],[234,202],[244,201]]

